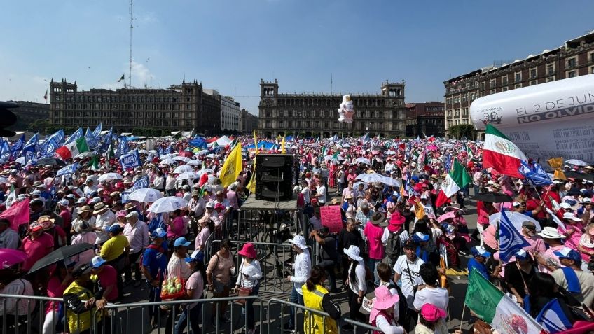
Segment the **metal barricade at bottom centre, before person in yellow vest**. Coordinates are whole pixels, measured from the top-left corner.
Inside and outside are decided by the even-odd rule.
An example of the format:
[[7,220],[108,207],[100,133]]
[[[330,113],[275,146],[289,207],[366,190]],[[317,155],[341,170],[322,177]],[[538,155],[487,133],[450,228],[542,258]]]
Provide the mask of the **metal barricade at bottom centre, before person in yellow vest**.
[[[278,304],[280,305],[280,314],[271,314],[272,311],[275,310],[275,308],[273,308],[271,305],[273,304]],[[303,333],[305,334],[310,334],[310,333],[326,333],[326,326],[328,326],[326,324],[326,320],[330,319],[330,314],[323,312],[323,311],[319,311],[318,309],[312,309],[310,307],[305,307],[303,305],[299,305],[299,304],[295,304],[293,302],[288,302],[286,300],[279,300],[277,298],[272,298],[270,300],[268,300],[267,303],[267,309],[268,312],[266,314],[266,318],[268,319],[267,321],[267,330],[268,333],[282,333],[282,329],[284,326],[284,308],[285,307],[294,307],[296,309],[301,309],[302,313],[303,313],[303,321],[297,321],[297,312],[295,312],[295,318],[293,323],[296,324],[295,330],[297,333],[301,333],[301,331],[303,330]],[[277,308],[276,308],[277,309]],[[305,311],[307,311],[308,313],[305,314]],[[305,316],[308,317],[308,321],[307,323],[305,322]],[[324,318],[324,321],[322,323],[322,328],[315,328],[313,327],[314,324],[314,316],[322,316]],[[371,326],[368,323],[362,323],[359,321],[353,321],[351,319],[346,319],[346,318],[341,318],[342,321],[344,321],[345,323],[349,323],[353,326],[353,330],[342,330],[342,326],[340,326],[340,321],[336,320],[336,327],[338,329],[338,333],[373,333],[373,331],[377,331],[378,333],[384,333],[380,328],[378,327],[374,327]],[[303,324],[303,328],[297,328],[297,324]],[[305,328],[305,325],[308,325],[308,328]],[[364,330],[364,332],[361,332],[361,330]]]

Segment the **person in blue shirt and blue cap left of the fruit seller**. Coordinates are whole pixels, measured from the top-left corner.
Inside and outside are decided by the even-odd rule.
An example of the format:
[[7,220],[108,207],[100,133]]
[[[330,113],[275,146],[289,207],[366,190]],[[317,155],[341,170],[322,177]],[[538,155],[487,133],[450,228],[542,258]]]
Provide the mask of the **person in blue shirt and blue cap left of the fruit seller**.
[[[159,302],[161,300],[160,286],[163,282],[163,274],[167,270],[167,243],[165,236],[167,232],[163,228],[157,228],[153,234],[153,242],[149,244],[142,255],[142,273],[148,284],[148,302]],[[148,307],[148,318],[151,328],[156,326],[156,307]]]

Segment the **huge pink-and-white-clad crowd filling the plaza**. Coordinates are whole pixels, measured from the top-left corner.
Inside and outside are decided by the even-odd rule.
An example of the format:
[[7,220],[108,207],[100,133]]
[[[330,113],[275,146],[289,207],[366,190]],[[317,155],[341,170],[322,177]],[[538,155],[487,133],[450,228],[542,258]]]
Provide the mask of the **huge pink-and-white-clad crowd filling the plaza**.
[[[175,300],[198,300],[209,293],[210,298],[259,295],[265,275],[256,246],[247,242],[235,249],[231,240],[237,236],[231,230],[237,232],[241,223],[237,211],[251,193],[252,160],[258,153],[248,146],[253,139],[237,137],[227,146],[207,149],[193,148],[188,139],[160,139],[155,151],[146,151],[141,141],[130,142],[139,150],[137,167],[122,167],[116,155],[99,155],[97,163],[85,155],[66,161],[80,167],[60,176],[64,165],[5,162],[0,261],[10,258],[4,249],[25,256],[0,267],[0,294],[63,298],[44,305],[42,333],[90,333],[93,321],[109,330],[116,320],[97,310],[125,301],[125,292],[143,284],[146,300],[159,302],[172,277],[179,279],[173,288],[184,284]],[[300,312],[288,307],[284,330],[337,333],[338,328],[353,330],[352,323],[359,321],[383,333],[461,333],[446,326],[448,317],[460,316],[448,314],[451,300],[464,299],[450,295],[452,271],[462,276],[478,272],[534,318],[558,300],[572,323],[592,320],[591,165],[565,165],[572,177],[551,177],[549,184],[534,186],[483,168],[480,142],[433,137],[284,141],[277,139],[268,153],[293,155],[295,221],[304,217],[309,228],[291,226],[291,274],[282,279],[292,284],[290,302],[329,314],[305,311],[304,321],[298,322]],[[244,144],[243,169],[233,183],[223,184],[221,169],[238,144]],[[164,148],[172,153],[163,156]],[[184,159],[172,159],[178,157]],[[454,160],[471,182],[438,207],[441,184]],[[198,177],[180,178],[180,166]],[[184,206],[155,212],[154,200],[130,199],[132,190],[144,188],[160,197],[178,197]],[[490,202],[478,196],[484,193],[506,200]],[[465,218],[471,214],[469,200],[473,207],[476,202],[476,229]],[[22,202],[27,212],[14,214]],[[340,207],[340,232],[331,232],[321,216],[322,207],[333,205]],[[528,244],[507,261],[499,257],[493,218],[502,211],[521,215],[518,234]],[[220,247],[207,249],[209,239],[221,240]],[[42,265],[53,251],[74,247],[80,251]],[[234,249],[240,259],[234,258]],[[337,295],[345,296],[348,309],[338,307]],[[246,333],[256,333],[254,299],[241,302]],[[34,311],[33,304],[0,298],[0,326],[18,326]],[[212,303],[210,310],[200,302],[172,305],[167,312],[158,307],[148,307],[149,325],[160,323],[165,333],[184,333],[187,323],[193,333],[201,333],[205,326],[232,321],[225,301]],[[202,312],[210,315],[209,323],[202,323]],[[160,313],[168,314],[166,321],[158,321]],[[353,322],[341,323],[341,317]],[[489,323],[476,314],[471,321],[474,333],[491,333]]]

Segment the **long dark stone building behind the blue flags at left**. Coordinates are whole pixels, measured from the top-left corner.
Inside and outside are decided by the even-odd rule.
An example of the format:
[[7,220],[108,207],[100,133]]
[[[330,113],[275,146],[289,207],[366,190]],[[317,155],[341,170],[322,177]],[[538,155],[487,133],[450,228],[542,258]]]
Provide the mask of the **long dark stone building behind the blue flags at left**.
[[194,130],[219,134],[221,101],[193,81],[167,89],[120,88],[78,91],[76,81],[50,82],[50,125],[95,127],[102,123],[118,132],[135,128]]

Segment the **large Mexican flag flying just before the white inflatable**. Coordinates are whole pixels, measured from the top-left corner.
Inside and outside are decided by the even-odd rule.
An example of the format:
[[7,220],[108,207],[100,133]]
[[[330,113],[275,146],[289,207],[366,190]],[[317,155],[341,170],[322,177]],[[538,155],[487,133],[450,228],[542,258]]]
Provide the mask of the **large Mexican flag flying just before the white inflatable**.
[[488,124],[483,147],[483,167],[492,167],[501,174],[524,179],[524,176],[518,172],[521,160],[527,161],[528,158],[520,148],[505,134]]

